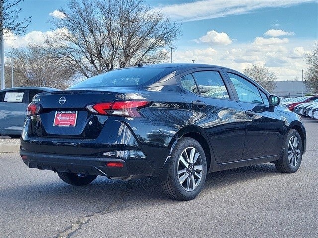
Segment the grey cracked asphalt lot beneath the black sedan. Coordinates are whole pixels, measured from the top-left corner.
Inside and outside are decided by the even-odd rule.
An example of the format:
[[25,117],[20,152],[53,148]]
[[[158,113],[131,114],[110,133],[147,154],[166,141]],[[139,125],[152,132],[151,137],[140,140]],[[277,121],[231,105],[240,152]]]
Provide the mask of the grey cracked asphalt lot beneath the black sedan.
[[192,201],[157,181],[97,178],[75,187],[0,154],[0,237],[318,237],[318,121],[304,119],[307,152],[294,174],[261,164],[209,174]]

